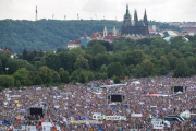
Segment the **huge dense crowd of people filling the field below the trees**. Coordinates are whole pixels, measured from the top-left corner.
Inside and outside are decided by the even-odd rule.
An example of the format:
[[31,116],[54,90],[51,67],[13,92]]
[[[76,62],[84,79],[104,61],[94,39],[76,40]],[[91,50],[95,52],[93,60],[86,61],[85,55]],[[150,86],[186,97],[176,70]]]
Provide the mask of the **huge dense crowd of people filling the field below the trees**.
[[[63,88],[30,86],[23,90],[4,90],[0,93],[0,121],[9,121],[15,129],[33,124],[42,130],[41,122],[51,122],[53,126],[58,124],[61,131],[152,131],[151,119],[163,119],[168,115],[180,115],[185,110],[196,112],[196,76],[131,79],[126,85],[100,87],[106,83],[113,84],[111,80],[107,80],[91,81],[87,85],[65,84]],[[121,83],[126,82],[122,80]],[[186,90],[183,94],[174,94],[173,86],[184,86]],[[168,96],[148,96],[156,93]],[[112,103],[108,99],[111,94],[121,94],[124,99]],[[32,116],[28,114],[30,107],[41,107],[44,115]],[[102,123],[99,124],[71,122],[93,120],[94,112],[125,116],[126,120],[100,120]],[[132,117],[132,114],[142,114],[142,117]],[[184,123],[171,122],[164,130],[194,131],[195,119],[193,115]]]

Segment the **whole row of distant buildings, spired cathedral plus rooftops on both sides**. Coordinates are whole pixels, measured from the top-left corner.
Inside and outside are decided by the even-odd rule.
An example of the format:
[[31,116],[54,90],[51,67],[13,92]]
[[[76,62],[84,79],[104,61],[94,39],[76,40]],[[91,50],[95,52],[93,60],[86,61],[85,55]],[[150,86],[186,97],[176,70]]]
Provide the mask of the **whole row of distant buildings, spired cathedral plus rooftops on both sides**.
[[128,11],[128,5],[126,5],[126,13],[124,15],[123,25],[121,27],[121,33],[118,33],[115,27],[113,27],[112,32],[108,32],[105,26],[103,32],[93,33],[88,36],[86,33],[78,38],[77,40],[72,40],[68,44],[68,48],[72,49],[75,47],[79,47],[83,45],[87,47],[87,44],[90,40],[105,40],[110,44],[114,41],[115,38],[120,36],[131,38],[131,39],[142,39],[147,37],[162,37],[166,41],[170,43],[172,37],[183,36],[184,40],[188,41],[185,37],[186,35],[194,36],[196,35],[196,23],[195,22],[169,22],[170,26],[179,26],[183,27],[183,32],[177,31],[160,31],[156,27],[156,25],[148,26],[147,13],[145,10],[144,19],[138,20],[137,11],[134,12],[134,19],[132,20],[132,15]]

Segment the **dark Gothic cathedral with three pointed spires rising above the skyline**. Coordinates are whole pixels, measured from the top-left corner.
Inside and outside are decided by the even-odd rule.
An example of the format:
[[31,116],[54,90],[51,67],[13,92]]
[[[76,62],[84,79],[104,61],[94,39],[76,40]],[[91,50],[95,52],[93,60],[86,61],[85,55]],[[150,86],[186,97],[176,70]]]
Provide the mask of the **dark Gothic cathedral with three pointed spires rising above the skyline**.
[[126,13],[124,15],[124,22],[121,27],[121,36],[148,36],[148,20],[145,10],[144,20],[138,21],[137,11],[134,12],[134,20],[126,5]]

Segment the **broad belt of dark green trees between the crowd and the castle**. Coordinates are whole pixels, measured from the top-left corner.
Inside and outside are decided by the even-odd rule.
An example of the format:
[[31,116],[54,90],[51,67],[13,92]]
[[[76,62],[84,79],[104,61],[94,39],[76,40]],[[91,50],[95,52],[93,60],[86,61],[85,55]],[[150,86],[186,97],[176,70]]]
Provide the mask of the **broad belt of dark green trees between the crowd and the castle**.
[[0,87],[87,83],[91,80],[196,74],[196,36],[133,40],[120,37],[113,44],[93,40],[86,49],[27,51],[16,59],[0,52]]

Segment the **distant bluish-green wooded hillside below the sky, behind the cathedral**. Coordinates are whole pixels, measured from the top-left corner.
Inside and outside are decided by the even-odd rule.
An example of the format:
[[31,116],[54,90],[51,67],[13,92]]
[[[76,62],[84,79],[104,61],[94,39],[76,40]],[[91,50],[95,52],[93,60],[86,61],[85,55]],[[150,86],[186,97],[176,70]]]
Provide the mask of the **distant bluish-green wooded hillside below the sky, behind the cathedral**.
[[[170,28],[168,24],[149,22],[161,29]],[[122,22],[114,21],[0,21],[0,48],[10,47],[13,52],[21,53],[27,50],[56,50],[58,47],[66,46],[69,40],[81,37],[84,32],[91,35],[94,32],[102,32],[107,26],[111,31],[113,26],[120,31]]]

